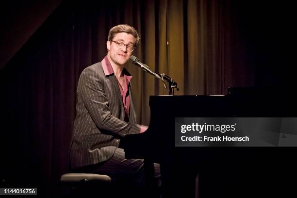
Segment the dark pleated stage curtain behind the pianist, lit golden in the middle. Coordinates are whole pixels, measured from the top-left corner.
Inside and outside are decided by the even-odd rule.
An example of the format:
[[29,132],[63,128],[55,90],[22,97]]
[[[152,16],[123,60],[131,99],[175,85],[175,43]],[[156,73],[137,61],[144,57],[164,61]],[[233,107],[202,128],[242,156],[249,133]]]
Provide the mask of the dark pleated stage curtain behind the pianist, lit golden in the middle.
[[[292,13],[289,5],[271,4],[62,2],[0,70],[2,185],[56,193],[60,175],[68,171],[79,75],[106,55],[108,31],[117,24],[135,27],[141,42],[134,55],[178,82],[177,95],[226,94],[229,86],[290,84],[290,54],[283,50],[290,49],[295,37],[286,33],[293,25]],[[133,75],[138,121],[148,125],[149,96],[166,95],[168,90],[131,63],[127,69]]]

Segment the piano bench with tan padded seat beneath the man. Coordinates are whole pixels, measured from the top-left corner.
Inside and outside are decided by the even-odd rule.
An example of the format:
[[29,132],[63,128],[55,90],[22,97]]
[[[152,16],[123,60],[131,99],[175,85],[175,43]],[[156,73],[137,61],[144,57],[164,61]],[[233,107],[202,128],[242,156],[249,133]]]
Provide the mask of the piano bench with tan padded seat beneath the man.
[[[59,186],[63,195],[67,196],[108,196],[113,186],[113,179],[108,175],[93,173],[65,173],[61,176]],[[66,189],[65,187],[69,187]]]

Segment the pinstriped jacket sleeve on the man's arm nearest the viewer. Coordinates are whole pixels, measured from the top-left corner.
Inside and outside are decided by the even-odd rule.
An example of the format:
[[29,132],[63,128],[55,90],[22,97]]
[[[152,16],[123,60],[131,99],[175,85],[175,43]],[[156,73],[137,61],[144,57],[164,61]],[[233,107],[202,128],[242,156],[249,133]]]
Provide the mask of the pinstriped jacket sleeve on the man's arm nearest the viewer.
[[136,124],[122,121],[111,114],[103,79],[100,79],[98,71],[93,67],[87,67],[82,71],[78,82],[78,94],[81,95],[83,104],[99,129],[122,137],[140,132]]

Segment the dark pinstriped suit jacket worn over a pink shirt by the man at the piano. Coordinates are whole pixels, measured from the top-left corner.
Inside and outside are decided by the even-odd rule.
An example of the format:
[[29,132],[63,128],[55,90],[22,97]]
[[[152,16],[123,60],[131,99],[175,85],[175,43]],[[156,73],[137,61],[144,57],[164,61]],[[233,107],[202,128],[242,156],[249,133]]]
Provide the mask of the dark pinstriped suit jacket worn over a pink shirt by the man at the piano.
[[[128,74],[126,69],[124,74]],[[110,159],[125,134],[139,133],[130,94],[130,122],[114,74],[105,76],[101,63],[85,68],[77,87],[78,102],[70,150],[71,167],[97,164]]]

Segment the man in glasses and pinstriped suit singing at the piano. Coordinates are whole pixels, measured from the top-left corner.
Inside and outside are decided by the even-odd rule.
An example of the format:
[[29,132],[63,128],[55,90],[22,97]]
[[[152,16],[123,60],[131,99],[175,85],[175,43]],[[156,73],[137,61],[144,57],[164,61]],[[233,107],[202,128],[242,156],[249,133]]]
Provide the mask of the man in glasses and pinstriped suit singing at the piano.
[[[106,57],[82,71],[70,161],[74,170],[107,174],[116,181],[143,186],[143,160],[125,159],[119,148],[121,137],[146,130],[136,125],[132,76],[124,68],[138,42],[133,27],[113,27],[106,42]],[[155,172],[160,174],[159,167]]]

